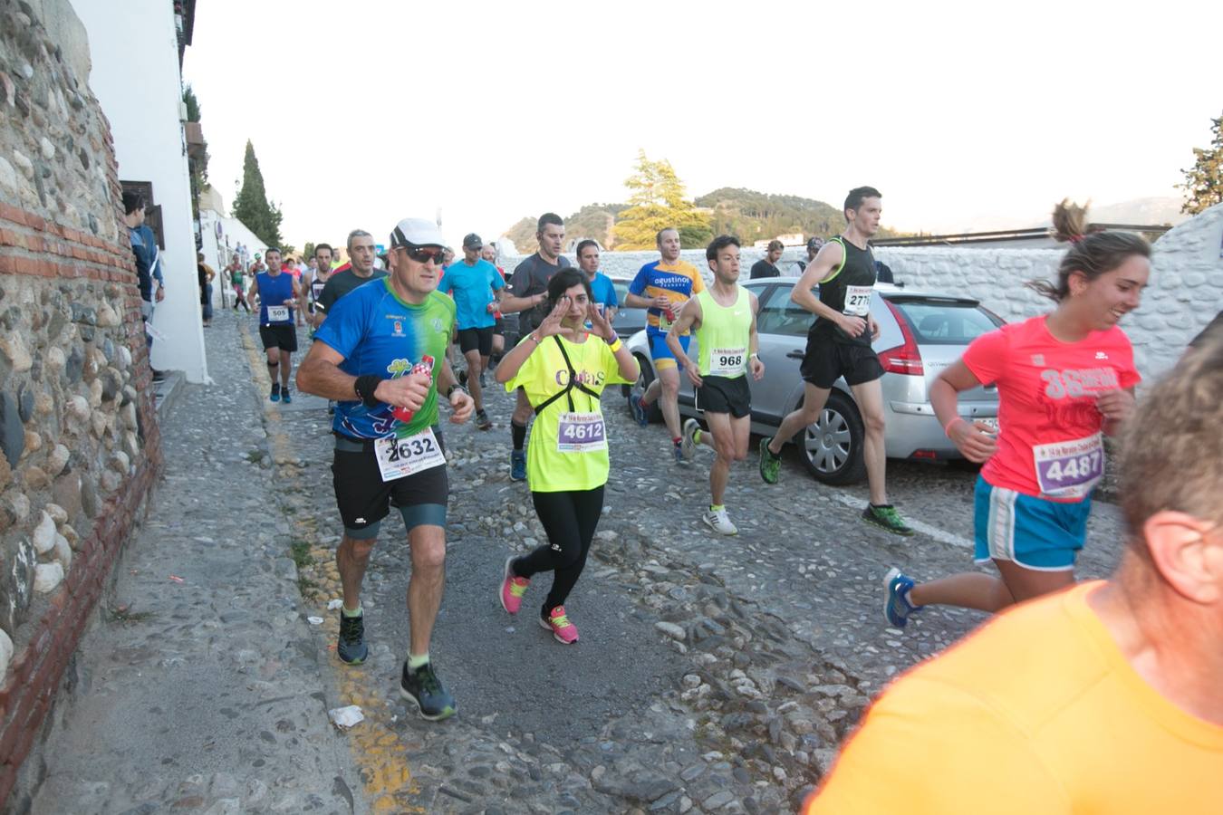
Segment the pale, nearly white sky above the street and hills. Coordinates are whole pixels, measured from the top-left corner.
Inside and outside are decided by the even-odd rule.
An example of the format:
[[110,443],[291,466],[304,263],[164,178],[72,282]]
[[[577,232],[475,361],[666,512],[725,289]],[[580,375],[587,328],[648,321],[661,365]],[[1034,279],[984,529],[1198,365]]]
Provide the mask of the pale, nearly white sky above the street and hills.
[[439,208],[494,239],[624,200],[638,148],[692,197],[872,185],[885,225],[945,231],[1179,197],[1221,31],[1200,0],[203,0],[183,75],[213,186],[232,205],[249,138],[298,249]]

